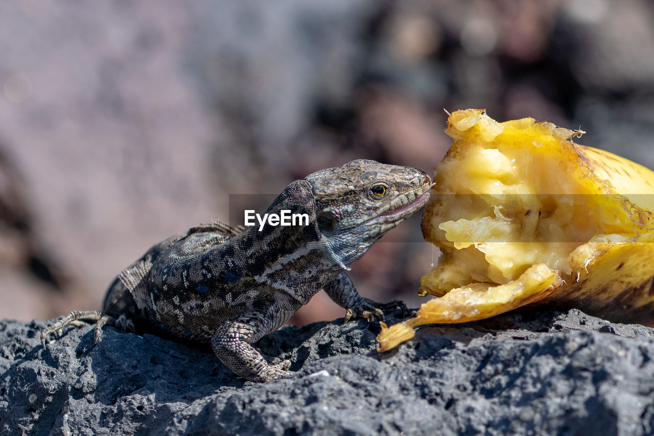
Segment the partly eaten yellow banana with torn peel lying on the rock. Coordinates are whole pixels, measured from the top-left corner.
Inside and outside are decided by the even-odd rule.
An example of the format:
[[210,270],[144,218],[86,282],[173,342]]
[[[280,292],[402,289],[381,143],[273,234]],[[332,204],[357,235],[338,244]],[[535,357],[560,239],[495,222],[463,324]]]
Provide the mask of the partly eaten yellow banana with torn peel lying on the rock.
[[423,236],[442,256],[419,293],[437,298],[383,325],[379,351],[418,325],[527,305],[653,325],[654,172],[533,118],[496,122],[466,109],[445,132],[453,145],[422,215]]

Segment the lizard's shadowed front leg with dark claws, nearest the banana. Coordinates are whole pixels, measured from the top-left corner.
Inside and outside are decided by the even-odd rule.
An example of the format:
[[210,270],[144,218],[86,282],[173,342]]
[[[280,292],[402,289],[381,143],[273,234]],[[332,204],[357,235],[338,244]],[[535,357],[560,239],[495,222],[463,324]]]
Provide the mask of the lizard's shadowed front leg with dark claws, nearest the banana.
[[361,297],[345,272],[341,272],[334,280],[327,283],[324,290],[336,304],[345,309],[346,323],[353,316],[361,316],[366,319],[376,316],[383,321],[384,311],[396,307],[402,308],[402,312],[408,315],[407,306],[400,300],[380,303]]

